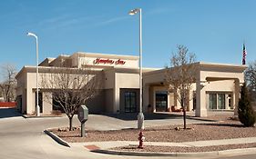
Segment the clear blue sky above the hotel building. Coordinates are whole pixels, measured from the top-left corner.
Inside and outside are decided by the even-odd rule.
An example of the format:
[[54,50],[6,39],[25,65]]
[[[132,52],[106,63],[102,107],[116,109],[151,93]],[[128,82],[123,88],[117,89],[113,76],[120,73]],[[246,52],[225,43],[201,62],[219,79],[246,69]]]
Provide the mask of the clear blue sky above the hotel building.
[[186,45],[198,61],[241,64],[256,59],[254,0],[2,0],[0,64],[36,65],[74,52],[138,55],[138,15],[142,8],[143,65],[163,67]]

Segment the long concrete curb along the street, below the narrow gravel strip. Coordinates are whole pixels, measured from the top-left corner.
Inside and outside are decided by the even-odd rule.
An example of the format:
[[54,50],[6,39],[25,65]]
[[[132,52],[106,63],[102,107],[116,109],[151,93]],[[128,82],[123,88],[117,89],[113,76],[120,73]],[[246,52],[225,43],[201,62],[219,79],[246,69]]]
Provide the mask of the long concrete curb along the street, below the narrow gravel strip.
[[228,154],[255,154],[256,148],[230,149],[223,151],[201,152],[201,153],[149,153],[149,152],[127,152],[114,150],[94,150],[93,153],[115,154],[115,155],[133,155],[133,156],[169,156],[169,157],[189,157],[189,156],[220,156]]

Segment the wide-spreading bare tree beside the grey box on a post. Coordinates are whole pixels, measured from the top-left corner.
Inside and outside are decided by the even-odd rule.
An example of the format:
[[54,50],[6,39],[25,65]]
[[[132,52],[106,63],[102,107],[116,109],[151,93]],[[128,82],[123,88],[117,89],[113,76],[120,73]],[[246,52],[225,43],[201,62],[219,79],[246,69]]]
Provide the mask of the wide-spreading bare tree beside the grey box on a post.
[[53,67],[42,75],[42,89],[49,103],[53,100],[61,105],[69,119],[69,131],[72,130],[72,119],[81,104],[95,97],[102,88],[102,71],[84,68]]

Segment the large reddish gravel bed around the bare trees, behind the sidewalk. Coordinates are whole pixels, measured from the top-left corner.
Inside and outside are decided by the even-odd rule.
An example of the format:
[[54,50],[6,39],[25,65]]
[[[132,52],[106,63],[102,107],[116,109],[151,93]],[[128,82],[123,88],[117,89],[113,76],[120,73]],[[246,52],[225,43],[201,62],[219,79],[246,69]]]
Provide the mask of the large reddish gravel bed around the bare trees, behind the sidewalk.
[[[209,117],[210,118],[210,117]],[[218,116],[214,117],[217,120]],[[190,129],[176,130],[183,125],[167,125],[149,127],[144,130],[146,142],[192,142],[202,140],[219,140],[241,137],[256,137],[256,128],[243,127],[239,121],[228,119],[229,116],[219,116],[222,122],[207,124],[188,124]],[[113,131],[87,130],[87,137],[80,137],[80,130],[52,132],[69,143],[100,142],[100,141],[138,141],[138,130],[124,129]]]

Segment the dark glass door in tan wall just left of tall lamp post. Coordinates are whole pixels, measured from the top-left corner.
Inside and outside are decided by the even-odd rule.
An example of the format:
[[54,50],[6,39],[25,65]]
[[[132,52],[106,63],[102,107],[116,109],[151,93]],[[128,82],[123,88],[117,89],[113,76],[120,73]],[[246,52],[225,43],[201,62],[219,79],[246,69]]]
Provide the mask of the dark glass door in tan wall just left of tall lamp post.
[[125,93],[125,112],[135,113],[136,112],[136,92],[126,92]]

